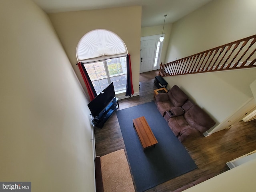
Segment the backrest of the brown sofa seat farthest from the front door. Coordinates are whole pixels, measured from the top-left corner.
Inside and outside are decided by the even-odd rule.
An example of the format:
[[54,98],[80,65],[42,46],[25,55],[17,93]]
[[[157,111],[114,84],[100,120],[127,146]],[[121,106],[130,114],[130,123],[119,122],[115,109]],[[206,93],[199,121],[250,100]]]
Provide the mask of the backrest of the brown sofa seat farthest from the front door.
[[197,105],[193,105],[186,111],[184,118],[191,127],[196,128],[201,133],[215,125],[214,120]]

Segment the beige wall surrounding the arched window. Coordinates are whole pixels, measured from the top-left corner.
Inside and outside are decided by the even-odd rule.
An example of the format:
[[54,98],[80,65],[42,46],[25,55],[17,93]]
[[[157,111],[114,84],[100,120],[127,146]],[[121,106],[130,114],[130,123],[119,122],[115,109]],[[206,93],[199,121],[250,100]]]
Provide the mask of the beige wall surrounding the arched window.
[[141,6],[87,10],[49,14],[72,66],[85,88],[76,66],[76,46],[79,40],[94,29],[116,33],[131,54],[134,92],[139,92]]

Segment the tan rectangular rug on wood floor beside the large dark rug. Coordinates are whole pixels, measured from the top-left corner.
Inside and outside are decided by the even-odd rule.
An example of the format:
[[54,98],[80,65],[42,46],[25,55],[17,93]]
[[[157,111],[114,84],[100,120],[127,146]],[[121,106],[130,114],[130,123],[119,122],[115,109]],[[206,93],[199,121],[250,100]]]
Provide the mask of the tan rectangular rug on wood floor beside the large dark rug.
[[134,192],[124,149],[100,157],[104,192]]

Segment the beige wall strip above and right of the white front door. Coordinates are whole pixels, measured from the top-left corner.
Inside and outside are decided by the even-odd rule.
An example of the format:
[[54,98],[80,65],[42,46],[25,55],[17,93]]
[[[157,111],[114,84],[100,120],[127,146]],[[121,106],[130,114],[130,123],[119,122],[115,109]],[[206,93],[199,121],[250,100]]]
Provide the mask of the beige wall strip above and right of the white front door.
[[[168,48],[168,44],[170,41],[170,34],[171,34],[172,24],[164,24],[164,41],[163,47],[162,47],[162,53],[160,57],[160,62],[163,64],[166,63],[165,56]],[[141,28],[141,37],[145,36],[152,36],[152,35],[158,35],[162,34],[163,26],[152,26],[152,27],[142,27]]]

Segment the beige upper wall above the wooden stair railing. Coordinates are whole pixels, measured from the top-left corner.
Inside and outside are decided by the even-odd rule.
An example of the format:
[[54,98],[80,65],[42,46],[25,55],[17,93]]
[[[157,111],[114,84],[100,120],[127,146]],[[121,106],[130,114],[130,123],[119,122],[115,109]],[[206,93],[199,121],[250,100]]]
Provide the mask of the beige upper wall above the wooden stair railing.
[[255,0],[213,0],[172,25],[171,62],[256,34]]

